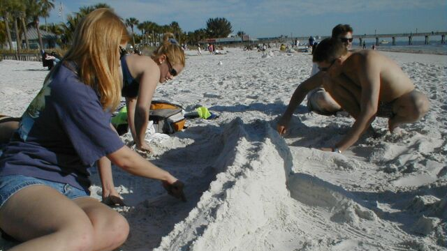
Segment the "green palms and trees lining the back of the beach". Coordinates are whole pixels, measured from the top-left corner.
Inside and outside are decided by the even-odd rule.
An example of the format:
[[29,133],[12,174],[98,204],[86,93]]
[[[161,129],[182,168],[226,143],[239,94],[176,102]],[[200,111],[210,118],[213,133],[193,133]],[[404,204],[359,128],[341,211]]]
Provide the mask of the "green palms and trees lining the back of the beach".
[[[36,29],[38,33],[38,46],[43,50],[43,41],[41,30],[50,31],[57,35],[57,44],[61,47],[69,47],[75,28],[85,15],[97,8],[111,8],[107,3],[97,3],[93,6],[82,6],[78,12],[70,14],[66,22],[58,24],[47,24],[46,18],[50,17],[50,11],[54,8],[52,0],[0,0],[0,43],[9,44],[13,50],[13,37],[16,41],[25,41],[17,43],[16,53],[20,50],[29,50],[29,40],[27,38],[27,29]],[[45,24],[39,23],[39,18],[45,19]],[[224,17],[210,18],[207,20],[206,28],[196,31],[185,32],[180,28],[178,22],[160,25],[156,22],[140,22],[135,17],[129,17],[123,20],[124,24],[131,30],[132,45],[135,43],[156,43],[163,37],[163,33],[170,32],[175,35],[179,43],[197,44],[200,40],[206,38],[225,38],[232,32],[231,23]],[[137,28],[141,33],[135,33]],[[237,32],[238,36],[243,36],[243,31]]]

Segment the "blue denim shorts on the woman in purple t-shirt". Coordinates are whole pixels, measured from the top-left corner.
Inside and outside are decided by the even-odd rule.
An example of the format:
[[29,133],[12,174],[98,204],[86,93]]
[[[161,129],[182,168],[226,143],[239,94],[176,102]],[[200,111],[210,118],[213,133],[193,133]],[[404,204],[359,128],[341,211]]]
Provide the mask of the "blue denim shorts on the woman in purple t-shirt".
[[89,197],[85,190],[73,187],[66,183],[47,181],[41,178],[33,178],[23,175],[0,176],[0,207],[16,192],[27,188],[30,185],[47,185],[60,192],[68,199],[77,199],[80,197]]

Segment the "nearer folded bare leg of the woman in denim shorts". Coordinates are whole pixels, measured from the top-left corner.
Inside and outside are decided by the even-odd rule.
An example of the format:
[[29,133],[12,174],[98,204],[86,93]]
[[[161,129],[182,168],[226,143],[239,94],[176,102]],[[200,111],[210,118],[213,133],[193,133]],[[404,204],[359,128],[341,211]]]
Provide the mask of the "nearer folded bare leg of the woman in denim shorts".
[[92,250],[94,228],[73,201],[45,185],[16,192],[0,209],[0,227],[20,245],[10,250]]

